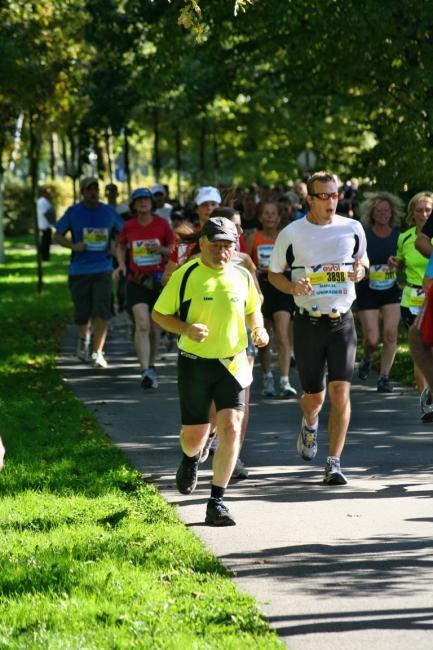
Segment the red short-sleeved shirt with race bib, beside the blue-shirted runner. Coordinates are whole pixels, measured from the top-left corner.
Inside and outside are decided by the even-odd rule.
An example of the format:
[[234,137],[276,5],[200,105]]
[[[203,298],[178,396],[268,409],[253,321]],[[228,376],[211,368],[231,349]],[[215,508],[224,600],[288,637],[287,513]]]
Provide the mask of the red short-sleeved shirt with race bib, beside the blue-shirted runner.
[[152,221],[145,226],[138,219],[125,221],[119,237],[119,243],[129,249],[129,274],[152,275],[156,271],[163,272],[165,259],[161,253],[150,250],[150,246],[168,246],[173,244],[173,231],[168,222],[161,217],[152,215]]

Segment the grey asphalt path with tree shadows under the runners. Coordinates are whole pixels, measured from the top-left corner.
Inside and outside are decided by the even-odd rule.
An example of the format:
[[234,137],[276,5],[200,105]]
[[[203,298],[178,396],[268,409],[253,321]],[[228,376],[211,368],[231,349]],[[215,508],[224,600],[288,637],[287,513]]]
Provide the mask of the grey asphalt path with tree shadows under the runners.
[[175,352],[161,348],[160,386],[143,391],[123,319],[110,330],[106,370],[78,361],[76,340],[70,326],[58,362],[71,390],[256,599],[289,648],[433,648],[433,424],[421,423],[413,389],[383,395],[377,377],[355,378],[342,458],[349,484],[329,487],[322,483],[327,404],[318,455],[304,463],[295,449],[297,400],[263,398],[256,369],[242,452],[250,476],[226,492],[237,525],[218,529],[203,523],[210,461],[192,496],[176,491]]

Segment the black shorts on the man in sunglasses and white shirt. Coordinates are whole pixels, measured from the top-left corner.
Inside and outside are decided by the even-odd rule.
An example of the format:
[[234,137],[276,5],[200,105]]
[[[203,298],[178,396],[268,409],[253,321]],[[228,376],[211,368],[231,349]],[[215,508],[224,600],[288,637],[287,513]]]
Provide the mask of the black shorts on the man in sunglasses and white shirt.
[[325,389],[326,370],[328,382],[352,380],[356,330],[351,311],[336,321],[296,312],[293,334],[296,367],[306,393]]

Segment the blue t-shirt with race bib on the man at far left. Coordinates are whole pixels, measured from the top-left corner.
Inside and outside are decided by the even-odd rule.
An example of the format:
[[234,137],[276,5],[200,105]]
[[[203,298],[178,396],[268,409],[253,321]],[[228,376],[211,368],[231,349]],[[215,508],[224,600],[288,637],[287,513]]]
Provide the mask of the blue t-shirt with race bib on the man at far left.
[[65,235],[70,232],[73,242],[85,242],[82,252],[72,251],[69,275],[91,275],[113,269],[110,239],[113,230],[120,232],[123,219],[105,203],[88,208],[83,202],[68,208],[56,223],[56,230]]

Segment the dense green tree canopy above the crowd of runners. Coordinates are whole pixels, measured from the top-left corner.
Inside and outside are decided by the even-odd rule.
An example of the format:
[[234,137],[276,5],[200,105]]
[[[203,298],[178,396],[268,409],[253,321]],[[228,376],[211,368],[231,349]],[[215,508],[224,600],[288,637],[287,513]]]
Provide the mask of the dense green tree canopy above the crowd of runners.
[[0,19],[3,165],[24,114],[75,174],[127,133],[152,138],[155,178],[285,181],[311,150],[382,189],[430,187],[422,0],[5,0]]

